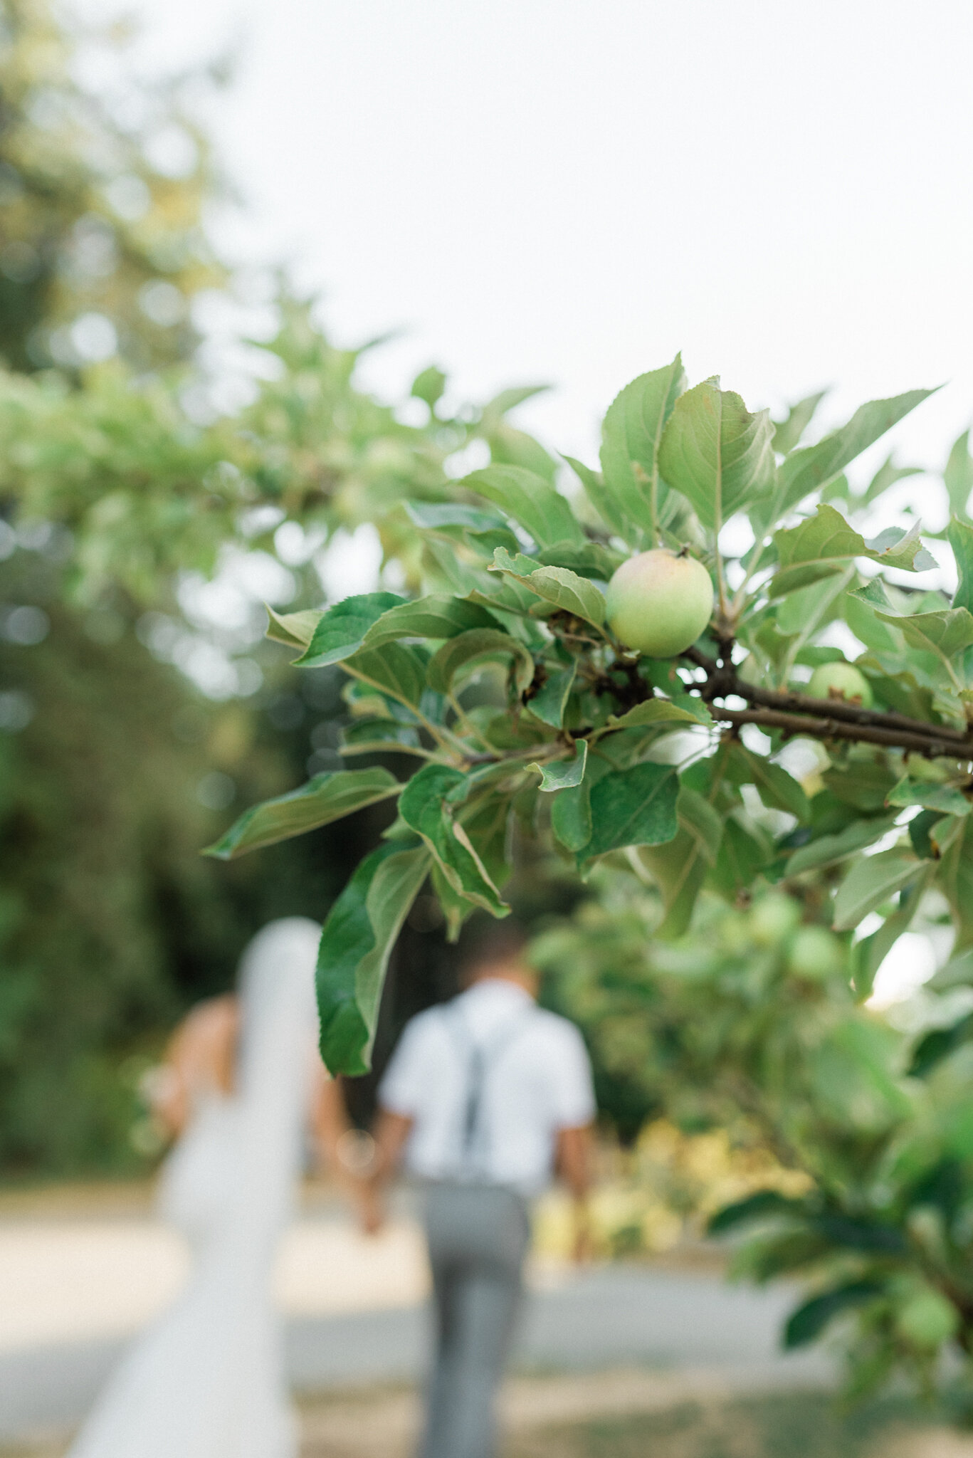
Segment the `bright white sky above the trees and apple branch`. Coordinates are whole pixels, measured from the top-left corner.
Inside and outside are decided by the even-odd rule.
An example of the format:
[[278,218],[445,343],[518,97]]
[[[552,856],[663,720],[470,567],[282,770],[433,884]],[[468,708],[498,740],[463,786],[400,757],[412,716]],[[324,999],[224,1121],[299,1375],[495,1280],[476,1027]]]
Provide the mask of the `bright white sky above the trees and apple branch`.
[[[112,10],[111,0],[85,0]],[[899,427],[939,461],[973,414],[969,0],[134,0],[153,64],[238,42],[214,114],[248,203],[333,332],[407,335],[460,394],[594,456],[633,375],[683,348],[751,408],[951,386]]]

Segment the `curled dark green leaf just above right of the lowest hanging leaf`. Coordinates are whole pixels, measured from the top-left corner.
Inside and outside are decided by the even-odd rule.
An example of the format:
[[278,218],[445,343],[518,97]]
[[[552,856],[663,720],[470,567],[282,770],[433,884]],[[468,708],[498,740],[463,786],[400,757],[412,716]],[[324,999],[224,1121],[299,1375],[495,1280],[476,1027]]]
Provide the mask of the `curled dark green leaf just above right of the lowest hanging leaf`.
[[455,818],[455,808],[462,803],[468,789],[468,777],[460,770],[427,764],[403,790],[398,814],[426,841],[442,875],[458,895],[493,916],[506,916],[511,908]]

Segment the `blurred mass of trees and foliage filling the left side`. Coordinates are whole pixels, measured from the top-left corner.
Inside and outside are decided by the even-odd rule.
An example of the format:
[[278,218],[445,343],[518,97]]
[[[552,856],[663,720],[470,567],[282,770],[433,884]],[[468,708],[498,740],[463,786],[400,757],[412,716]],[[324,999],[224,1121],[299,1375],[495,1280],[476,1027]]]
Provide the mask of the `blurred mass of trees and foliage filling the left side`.
[[[137,1083],[166,1031],[230,984],[268,917],[321,919],[384,825],[366,811],[252,866],[200,857],[233,806],[338,763],[338,675],[296,682],[263,642],[261,599],[318,605],[334,534],[338,573],[349,553],[375,570],[394,555],[407,582],[406,519],[381,539],[356,528],[403,496],[435,500],[473,442],[483,459],[553,469],[506,420],[530,391],[448,411],[429,369],[404,423],[356,388],[362,351],[336,348],[280,280],[222,399],[226,364],[197,316],[247,311],[204,230],[228,190],[195,105],[220,76],[146,85],[124,41],[47,0],[0,4],[0,1171],[13,1180],[144,1168]],[[392,1026],[452,986],[438,932],[413,917]]]

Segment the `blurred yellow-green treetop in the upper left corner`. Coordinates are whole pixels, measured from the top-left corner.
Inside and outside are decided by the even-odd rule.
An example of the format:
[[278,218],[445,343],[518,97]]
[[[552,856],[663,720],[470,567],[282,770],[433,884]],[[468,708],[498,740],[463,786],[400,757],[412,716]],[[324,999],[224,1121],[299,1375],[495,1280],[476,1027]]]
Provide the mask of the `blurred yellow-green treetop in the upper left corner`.
[[184,360],[193,295],[226,277],[201,223],[217,179],[200,77],[125,76],[106,64],[124,42],[50,0],[0,4],[0,354],[18,370]]

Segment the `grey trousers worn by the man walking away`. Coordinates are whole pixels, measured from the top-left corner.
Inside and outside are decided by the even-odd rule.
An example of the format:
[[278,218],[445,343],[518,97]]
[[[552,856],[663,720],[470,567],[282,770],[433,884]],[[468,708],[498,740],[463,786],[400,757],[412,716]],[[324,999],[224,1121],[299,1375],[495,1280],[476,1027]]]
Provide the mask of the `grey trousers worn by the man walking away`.
[[527,1201],[497,1185],[430,1185],[426,1238],[436,1349],[419,1455],[492,1458],[496,1389],[522,1293]]

